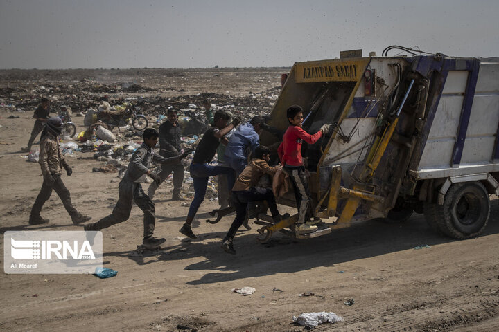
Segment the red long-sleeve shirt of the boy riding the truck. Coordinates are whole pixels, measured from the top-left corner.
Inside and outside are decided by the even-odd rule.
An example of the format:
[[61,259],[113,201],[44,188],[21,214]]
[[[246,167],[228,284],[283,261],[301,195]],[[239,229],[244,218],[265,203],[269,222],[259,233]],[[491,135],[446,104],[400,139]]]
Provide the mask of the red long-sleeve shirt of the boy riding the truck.
[[277,150],[283,166],[303,165],[303,159],[301,158],[301,142],[305,141],[308,144],[314,144],[321,137],[322,130],[310,135],[310,133],[307,133],[304,129],[301,129],[301,127],[290,125],[288,130],[286,130],[286,133],[284,133],[283,141]]

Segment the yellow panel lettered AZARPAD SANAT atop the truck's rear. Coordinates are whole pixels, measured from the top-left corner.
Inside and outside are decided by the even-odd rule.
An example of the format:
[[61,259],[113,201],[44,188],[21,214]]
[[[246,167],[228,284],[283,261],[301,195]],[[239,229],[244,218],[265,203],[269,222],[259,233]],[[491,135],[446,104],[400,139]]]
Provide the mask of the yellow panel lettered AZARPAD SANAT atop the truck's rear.
[[357,82],[364,75],[368,62],[369,58],[297,62],[295,81],[297,83]]

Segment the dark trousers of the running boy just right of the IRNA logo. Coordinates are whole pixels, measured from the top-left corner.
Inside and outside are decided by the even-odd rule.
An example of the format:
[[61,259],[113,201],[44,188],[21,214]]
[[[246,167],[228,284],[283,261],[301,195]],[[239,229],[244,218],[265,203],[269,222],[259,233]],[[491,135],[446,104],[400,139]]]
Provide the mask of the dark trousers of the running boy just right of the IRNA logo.
[[118,185],[119,199],[113,209],[112,214],[100,219],[94,223],[95,230],[108,228],[116,223],[123,223],[130,218],[133,203],[142,210],[143,216],[143,237],[152,237],[155,230],[156,210],[151,199],[142,190],[142,186],[138,182],[121,180]]

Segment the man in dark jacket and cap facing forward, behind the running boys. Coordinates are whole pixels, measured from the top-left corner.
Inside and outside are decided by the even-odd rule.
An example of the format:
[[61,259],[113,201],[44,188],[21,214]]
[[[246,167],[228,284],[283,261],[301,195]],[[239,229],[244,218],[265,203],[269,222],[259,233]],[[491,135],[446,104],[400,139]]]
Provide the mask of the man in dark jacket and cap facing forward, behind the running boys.
[[[177,122],[177,111],[175,109],[168,109],[168,120],[159,126],[159,155],[162,157],[175,157],[180,154],[180,136],[182,135],[182,128]],[[161,172],[159,177],[161,181],[159,184],[151,183],[148,189],[148,196],[150,199],[154,196],[158,186],[165,181],[166,178],[173,171],[173,201],[183,201],[184,197],[180,194],[182,190],[182,183],[184,182],[184,165],[179,160],[178,163],[170,165],[161,165]]]

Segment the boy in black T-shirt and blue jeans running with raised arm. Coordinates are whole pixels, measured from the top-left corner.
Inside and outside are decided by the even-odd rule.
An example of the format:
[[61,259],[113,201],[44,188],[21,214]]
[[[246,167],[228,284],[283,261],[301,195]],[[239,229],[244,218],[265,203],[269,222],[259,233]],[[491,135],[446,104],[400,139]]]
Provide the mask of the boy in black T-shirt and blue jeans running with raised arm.
[[191,176],[194,182],[194,199],[191,203],[191,207],[189,208],[186,222],[182,228],[180,228],[180,232],[191,239],[196,238],[192,232],[191,224],[194,220],[196,212],[198,212],[198,209],[204,200],[204,194],[206,194],[208,185],[208,178],[210,176],[227,174],[229,177],[229,183],[234,183],[234,172],[230,167],[208,165],[208,163],[211,162],[215,156],[216,149],[220,143],[220,138],[239,124],[239,120],[236,118],[227,126],[228,120],[229,116],[227,113],[224,111],[216,111],[215,116],[213,117],[213,127],[210,127],[204,133],[194,152],[191,167],[189,167],[189,171],[191,171]]

